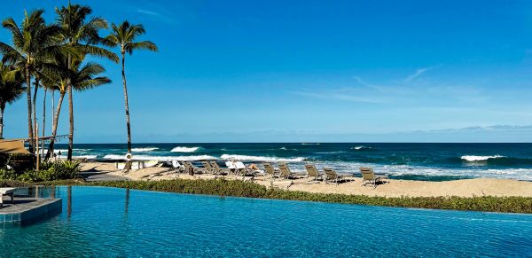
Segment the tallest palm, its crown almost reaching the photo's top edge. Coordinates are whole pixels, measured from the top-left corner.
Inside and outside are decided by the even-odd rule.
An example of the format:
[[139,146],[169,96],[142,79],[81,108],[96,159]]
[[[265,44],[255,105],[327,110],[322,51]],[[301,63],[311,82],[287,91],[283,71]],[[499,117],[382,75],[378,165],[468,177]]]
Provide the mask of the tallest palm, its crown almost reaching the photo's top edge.
[[[101,18],[91,18],[88,20],[92,9],[89,6],[82,6],[79,4],[70,4],[56,8],[58,14],[58,23],[61,26],[61,37],[70,48],[75,48],[83,54],[93,54],[100,57],[105,57],[118,62],[118,57],[111,51],[98,47],[101,38],[98,31],[102,28],[107,28],[107,22]],[[73,56],[68,56],[67,65],[70,68]],[[72,96],[72,82],[67,82],[68,91],[68,109],[70,132],[68,134],[68,154],[67,159],[72,159],[72,149],[74,147],[74,104]]]

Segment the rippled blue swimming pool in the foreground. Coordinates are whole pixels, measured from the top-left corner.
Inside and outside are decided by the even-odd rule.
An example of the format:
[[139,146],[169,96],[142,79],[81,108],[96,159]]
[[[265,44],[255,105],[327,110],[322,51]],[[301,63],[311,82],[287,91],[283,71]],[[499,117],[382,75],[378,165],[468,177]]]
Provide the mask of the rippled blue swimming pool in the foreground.
[[59,187],[60,215],[0,227],[0,256],[532,255],[532,215]]

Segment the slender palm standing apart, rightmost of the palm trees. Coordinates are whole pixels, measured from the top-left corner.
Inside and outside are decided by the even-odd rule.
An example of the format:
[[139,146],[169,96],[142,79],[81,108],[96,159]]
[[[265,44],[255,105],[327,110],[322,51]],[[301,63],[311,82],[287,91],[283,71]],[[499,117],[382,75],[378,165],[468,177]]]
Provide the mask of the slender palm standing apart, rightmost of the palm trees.
[[[142,24],[129,24],[127,20],[121,24],[116,25],[113,23],[111,35],[106,36],[105,43],[109,46],[119,46],[121,53],[121,65],[122,65],[122,82],[124,84],[124,99],[126,109],[126,125],[128,129],[128,153],[131,153],[131,127],[129,125],[129,103],[128,103],[128,87],[126,84],[126,72],[125,72],[125,55],[133,54],[133,51],[137,50],[149,50],[158,51],[157,46],[149,41],[136,42],[136,38],[139,35],[145,34],[145,28]],[[126,163],[127,169],[131,166],[129,160]]]

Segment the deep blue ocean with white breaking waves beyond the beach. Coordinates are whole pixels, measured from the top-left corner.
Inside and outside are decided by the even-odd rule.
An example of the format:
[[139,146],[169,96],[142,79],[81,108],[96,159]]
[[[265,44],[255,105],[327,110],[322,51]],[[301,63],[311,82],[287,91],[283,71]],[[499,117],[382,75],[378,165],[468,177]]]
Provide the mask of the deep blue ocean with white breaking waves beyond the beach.
[[[56,145],[66,155],[66,145]],[[135,160],[242,160],[286,162],[294,171],[314,163],[342,173],[372,167],[392,178],[445,181],[492,177],[532,180],[532,144],[135,144]],[[123,160],[126,145],[76,144],[74,156]]]

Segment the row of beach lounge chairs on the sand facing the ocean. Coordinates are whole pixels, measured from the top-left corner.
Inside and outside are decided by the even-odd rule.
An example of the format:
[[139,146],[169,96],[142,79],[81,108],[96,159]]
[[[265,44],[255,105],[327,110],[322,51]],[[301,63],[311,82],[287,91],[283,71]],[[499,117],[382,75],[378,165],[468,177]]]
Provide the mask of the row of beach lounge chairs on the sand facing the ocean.
[[[333,168],[324,168],[323,172],[320,172],[314,164],[305,165],[305,174],[296,173],[290,170],[286,163],[278,163],[278,168],[274,168],[270,163],[263,162],[262,169],[251,169],[246,167],[241,161],[227,161],[225,165],[227,168],[221,168],[215,160],[201,161],[203,167],[196,167],[191,161],[172,161],[172,167],[176,168],[179,173],[192,173],[192,174],[212,174],[219,176],[251,176],[252,180],[254,176],[270,176],[272,180],[278,179],[299,179],[303,177],[312,177],[313,182],[323,181],[326,184],[334,183],[340,184],[341,182],[349,182],[355,180],[353,175],[342,175],[337,173]],[[363,178],[363,185],[372,184],[376,187],[377,184],[383,183],[388,179],[387,175],[375,174],[372,168],[360,168],[360,172]]]

